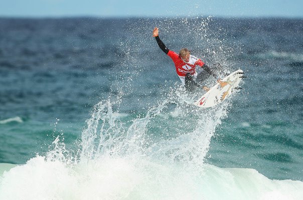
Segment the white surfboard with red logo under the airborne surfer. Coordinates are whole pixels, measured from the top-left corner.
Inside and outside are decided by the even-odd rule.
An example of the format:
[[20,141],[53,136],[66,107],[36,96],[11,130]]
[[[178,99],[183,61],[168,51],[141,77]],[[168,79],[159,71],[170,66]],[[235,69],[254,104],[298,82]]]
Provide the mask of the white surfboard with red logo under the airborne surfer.
[[238,89],[241,82],[243,70],[238,69],[222,79],[225,85],[221,87],[219,83],[202,95],[194,105],[198,107],[212,107],[224,101],[230,94]]

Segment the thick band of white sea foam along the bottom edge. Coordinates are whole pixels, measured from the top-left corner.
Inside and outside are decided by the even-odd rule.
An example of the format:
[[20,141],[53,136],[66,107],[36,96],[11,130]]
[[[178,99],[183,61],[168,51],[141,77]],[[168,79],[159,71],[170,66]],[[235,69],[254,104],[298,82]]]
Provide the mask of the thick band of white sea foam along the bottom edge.
[[[1,168],[1,165],[0,165]],[[184,168],[146,157],[106,156],[66,165],[35,157],[0,176],[0,199],[302,199],[303,182],[254,169]]]

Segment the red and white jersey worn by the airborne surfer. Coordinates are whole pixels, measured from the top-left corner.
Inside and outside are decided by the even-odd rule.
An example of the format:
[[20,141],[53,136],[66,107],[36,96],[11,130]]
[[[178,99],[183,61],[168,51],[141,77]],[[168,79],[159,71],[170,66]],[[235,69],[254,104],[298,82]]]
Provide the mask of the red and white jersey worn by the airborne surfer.
[[185,76],[187,73],[191,73],[191,75],[193,75],[194,78],[196,78],[197,76],[196,66],[199,65],[202,67],[204,64],[204,62],[201,59],[193,55],[190,55],[189,61],[185,62],[178,53],[172,50],[169,50],[168,56],[170,56],[173,59],[177,74],[183,84],[185,84]]

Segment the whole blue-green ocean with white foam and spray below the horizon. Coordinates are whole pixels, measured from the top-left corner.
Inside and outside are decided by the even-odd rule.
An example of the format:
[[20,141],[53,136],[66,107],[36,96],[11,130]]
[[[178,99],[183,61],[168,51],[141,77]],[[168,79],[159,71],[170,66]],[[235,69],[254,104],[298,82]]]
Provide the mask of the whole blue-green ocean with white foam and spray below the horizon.
[[[242,69],[242,89],[193,105],[201,93],[184,91],[155,26],[221,76]],[[303,19],[2,17],[0,27],[1,200],[303,199]]]

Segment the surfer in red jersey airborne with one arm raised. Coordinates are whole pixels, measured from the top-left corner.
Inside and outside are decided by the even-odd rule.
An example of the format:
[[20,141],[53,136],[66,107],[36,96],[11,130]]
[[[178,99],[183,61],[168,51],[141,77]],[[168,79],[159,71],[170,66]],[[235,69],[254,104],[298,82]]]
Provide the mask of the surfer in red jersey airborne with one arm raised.
[[[208,91],[207,86],[202,86],[198,82],[202,82],[209,75],[205,75],[204,71],[197,73],[196,66],[200,66],[210,75],[218,78],[218,76],[207,66],[201,59],[191,55],[191,51],[187,48],[182,48],[178,53],[168,49],[163,41],[159,37],[159,27],[155,27],[153,30],[153,36],[156,38],[159,47],[170,56],[176,67],[177,74],[181,79],[183,85],[188,91],[193,91],[197,87],[202,87],[204,90]],[[218,82],[224,84],[219,78]]]

